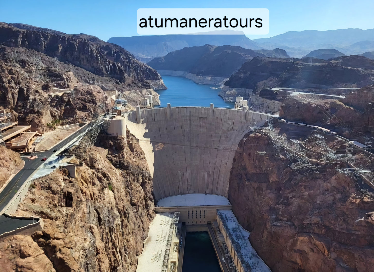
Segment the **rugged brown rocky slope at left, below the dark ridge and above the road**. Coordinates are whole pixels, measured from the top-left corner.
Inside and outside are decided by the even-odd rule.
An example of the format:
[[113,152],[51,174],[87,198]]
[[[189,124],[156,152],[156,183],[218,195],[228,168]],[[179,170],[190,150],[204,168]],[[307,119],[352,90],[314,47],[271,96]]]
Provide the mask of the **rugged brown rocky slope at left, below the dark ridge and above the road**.
[[153,89],[162,88],[162,79],[125,77],[120,82],[32,49],[0,46],[0,107],[13,113],[13,121],[40,132],[57,119],[61,124],[88,121],[108,112],[116,98],[128,100],[128,109],[149,94],[155,104],[160,103]]

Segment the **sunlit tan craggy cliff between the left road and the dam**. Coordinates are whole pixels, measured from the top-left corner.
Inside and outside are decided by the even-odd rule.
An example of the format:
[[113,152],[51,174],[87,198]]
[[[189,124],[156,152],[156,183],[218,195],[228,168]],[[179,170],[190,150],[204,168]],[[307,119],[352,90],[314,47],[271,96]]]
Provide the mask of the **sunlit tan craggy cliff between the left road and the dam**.
[[[16,215],[41,216],[43,231],[35,232],[33,241],[30,236],[1,241],[0,248],[13,247],[0,251],[0,262],[7,258],[10,269],[30,271],[20,260],[30,255],[17,242],[24,238],[36,252],[28,265],[41,267],[34,271],[135,271],[154,217],[151,176],[136,138],[129,135],[128,145],[121,137],[113,142],[109,157],[120,157],[126,170],[91,150],[76,179],[62,168],[34,182]],[[53,267],[43,269],[37,258]]]

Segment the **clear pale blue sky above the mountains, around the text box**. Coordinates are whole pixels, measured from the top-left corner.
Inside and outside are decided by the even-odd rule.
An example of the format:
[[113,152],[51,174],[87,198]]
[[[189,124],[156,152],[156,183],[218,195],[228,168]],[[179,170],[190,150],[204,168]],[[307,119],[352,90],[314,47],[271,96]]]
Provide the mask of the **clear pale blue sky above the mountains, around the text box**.
[[137,34],[139,8],[267,8],[267,38],[287,31],[374,28],[373,0],[0,0],[0,21],[24,23],[107,41]]

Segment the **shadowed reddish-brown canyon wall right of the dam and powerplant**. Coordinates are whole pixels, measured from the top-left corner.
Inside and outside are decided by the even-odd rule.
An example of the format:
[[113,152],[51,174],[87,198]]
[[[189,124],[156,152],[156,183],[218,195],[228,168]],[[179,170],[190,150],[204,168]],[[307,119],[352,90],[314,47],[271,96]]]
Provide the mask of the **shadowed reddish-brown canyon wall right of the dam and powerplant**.
[[260,134],[240,142],[228,198],[272,271],[373,270],[374,198],[335,167],[290,165]]

